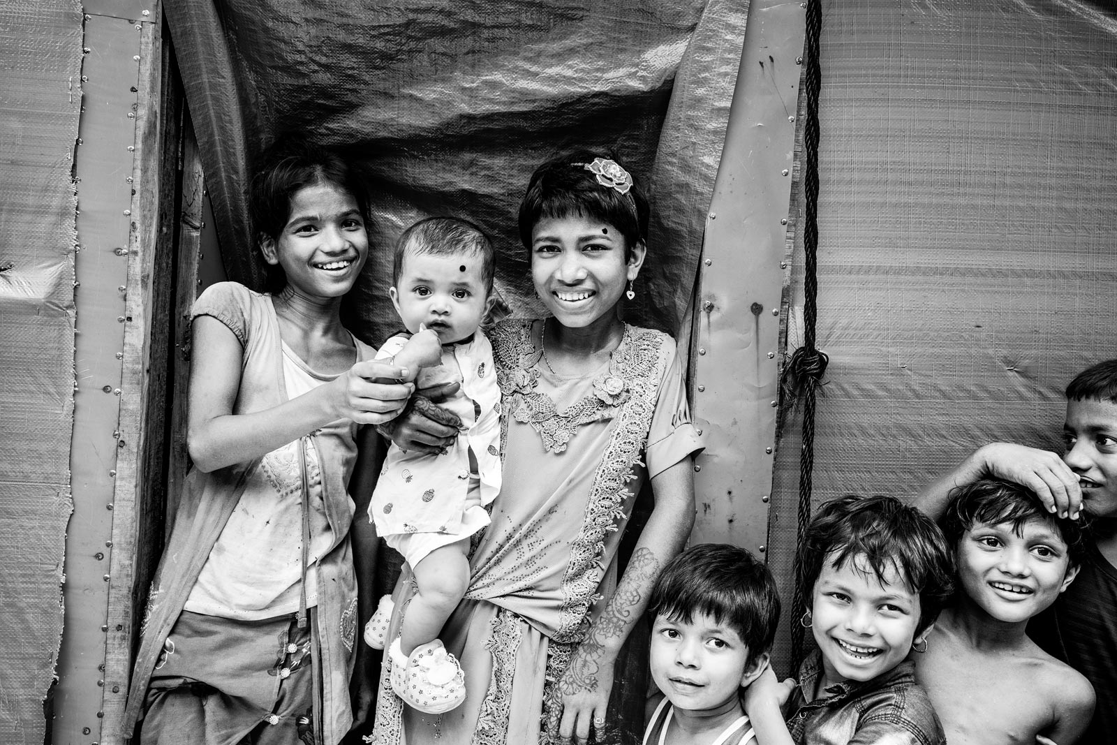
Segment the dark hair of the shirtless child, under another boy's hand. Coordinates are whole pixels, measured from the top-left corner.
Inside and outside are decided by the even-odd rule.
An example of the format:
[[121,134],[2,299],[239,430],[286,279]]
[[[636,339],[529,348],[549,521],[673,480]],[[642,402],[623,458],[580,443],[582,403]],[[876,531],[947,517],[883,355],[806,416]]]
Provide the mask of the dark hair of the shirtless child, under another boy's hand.
[[946,512],[938,518],[947,543],[956,547],[962,535],[977,524],[1011,523],[1016,535],[1024,523],[1040,519],[1054,528],[1067,544],[1073,566],[1086,557],[1083,526],[1079,520],[1056,517],[1043,507],[1035,493],[1025,486],[997,478],[984,478],[955,488]]

